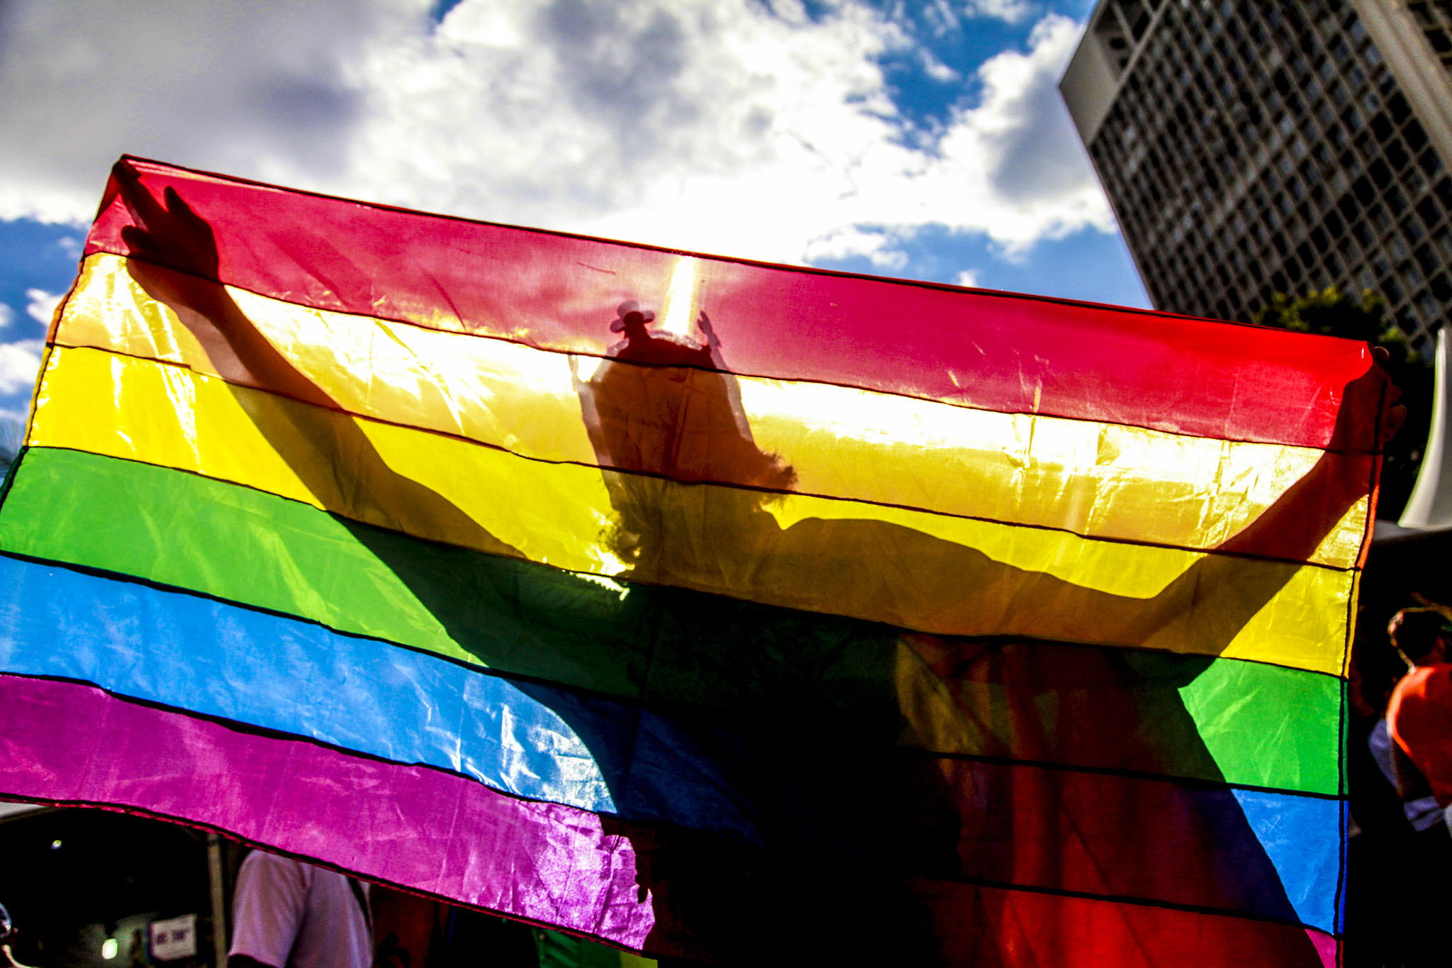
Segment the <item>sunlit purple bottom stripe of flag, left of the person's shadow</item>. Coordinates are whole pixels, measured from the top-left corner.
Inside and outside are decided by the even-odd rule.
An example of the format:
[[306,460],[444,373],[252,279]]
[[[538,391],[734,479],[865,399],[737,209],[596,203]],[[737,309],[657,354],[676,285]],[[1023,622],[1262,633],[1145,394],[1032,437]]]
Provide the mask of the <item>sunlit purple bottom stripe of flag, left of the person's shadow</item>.
[[630,840],[592,813],[238,731],[94,686],[0,675],[0,788],[197,821],[630,948],[655,924]]

